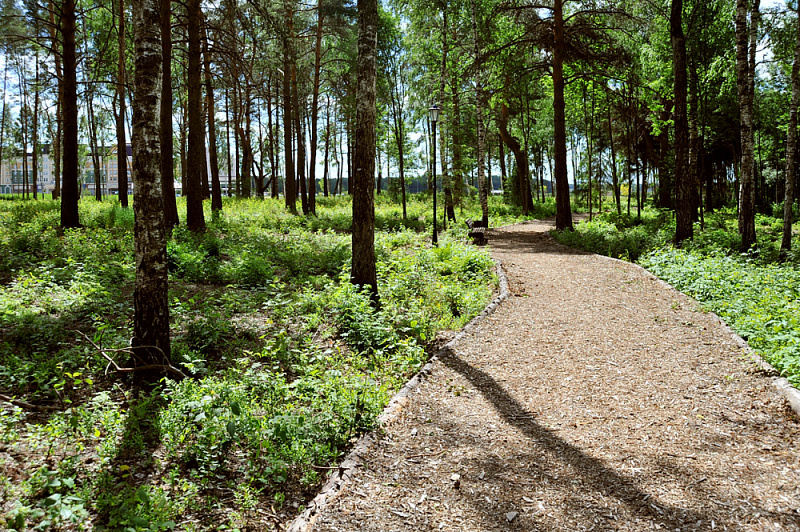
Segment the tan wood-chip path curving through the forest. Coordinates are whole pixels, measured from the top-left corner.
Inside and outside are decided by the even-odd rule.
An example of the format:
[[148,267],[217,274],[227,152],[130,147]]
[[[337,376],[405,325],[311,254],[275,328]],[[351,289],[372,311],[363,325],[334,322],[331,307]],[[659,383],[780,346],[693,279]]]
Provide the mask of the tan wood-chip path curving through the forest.
[[314,531],[800,531],[800,423],[646,271],[491,232],[509,297],[440,354]]

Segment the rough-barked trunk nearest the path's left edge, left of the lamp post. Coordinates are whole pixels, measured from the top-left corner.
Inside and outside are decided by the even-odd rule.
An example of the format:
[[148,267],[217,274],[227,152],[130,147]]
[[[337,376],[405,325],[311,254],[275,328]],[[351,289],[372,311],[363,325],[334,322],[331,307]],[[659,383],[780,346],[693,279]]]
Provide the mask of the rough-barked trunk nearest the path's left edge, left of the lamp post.
[[350,281],[368,288],[379,304],[375,259],[375,84],[378,54],[378,1],[358,0],[356,153],[353,191],[353,263]]

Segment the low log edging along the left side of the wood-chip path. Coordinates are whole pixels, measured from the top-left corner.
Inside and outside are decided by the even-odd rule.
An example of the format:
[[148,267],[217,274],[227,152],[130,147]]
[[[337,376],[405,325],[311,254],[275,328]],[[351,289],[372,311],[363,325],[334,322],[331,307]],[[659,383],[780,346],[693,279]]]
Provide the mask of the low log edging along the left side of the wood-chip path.
[[408,397],[411,395],[411,393],[416,390],[420,384],[422,384],[422,381],[428,375],[430,375],[431,372],[433,372],[434,366],[439,360],[439,353],[452,349],[459,340],[461,340],[467,333],[480,324],[480,322],[490,316],[495,310],[497,310],[497,307],[499,307],[503,301],[511,296],[511,293],[508,291],[508,277],[506,277],[503,263],[497,259],[492,260],[494,260],[497,277],[499,279],[500,293],[492,300],[491,303],[486,306],[486,308],[481,311],[480,314],[472,318],[472,320],[470,320],[470,322],[467,323],[458,332],[458,334],[456,334],[449,342],[440,347],[436,354],[432,356],[424,366],[422,366],[422,369],[420,369],[417,374],[414,375],[411,380],[409,380],[405,386],[403,386],[400,391],[389,400],[381,415],[378,416],[378,428],[367,432],[358,439],[356,444],[353,446],[353,449],[347,454],[347,456],[345,456],[345,459],[342,461],[342,463],[339,464],[338,468],[336,468],[330,474],[328,480],[322,486],[322,489],[319,491],[317,496],[314,497],[314,499],[312,499],[312,501],[309,503],[308,508],[306,508],[299,516],[294,518],[292,524],[287,529],[288,532],[309,532],[312,529],[322,511],[327,508],[329,503],[336,499],[336,497],[343,491],[350,478],[353,476],[355,470],[361,467],[361,465],[366,461],[369,452],[380,439],[379,433],[381,427],[397,419],[400,411],[403,409],[406,403],[408,403]]

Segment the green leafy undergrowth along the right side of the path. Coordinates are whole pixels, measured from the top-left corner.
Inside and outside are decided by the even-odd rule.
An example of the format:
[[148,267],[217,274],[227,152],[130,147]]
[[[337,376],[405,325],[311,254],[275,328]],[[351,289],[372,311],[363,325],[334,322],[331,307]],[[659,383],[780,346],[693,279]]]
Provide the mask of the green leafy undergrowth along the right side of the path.
[[[781,208],[773,209],[782,215]],[[736,213],[706,215],[704,227],[683,249],[671,245],[671,213],[646,209],[641,220],[604,214],[574,232],[554,232],[561,243],[637,261],[672,286],[719,314],[748,344],[796,387],[800,387],[800,241],[779,260],[783,221],[758,215],[757,247],[739,252]]]

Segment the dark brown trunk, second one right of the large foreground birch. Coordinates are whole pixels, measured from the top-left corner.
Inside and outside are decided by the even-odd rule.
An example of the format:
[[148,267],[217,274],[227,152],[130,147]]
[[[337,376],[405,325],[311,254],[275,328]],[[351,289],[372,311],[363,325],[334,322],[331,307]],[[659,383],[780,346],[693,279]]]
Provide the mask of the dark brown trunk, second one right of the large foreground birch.
[[187,120],[189,123],[189,145],[186,169],[186,227],[198,233],[206,228],[203,217],[203,166],[205,154],[205,127],[203,126],[203,94],[200,87],[200,21],[202,12],[200,0],[188,0],[186,4],[188,19],[189,50],[186,71]]

